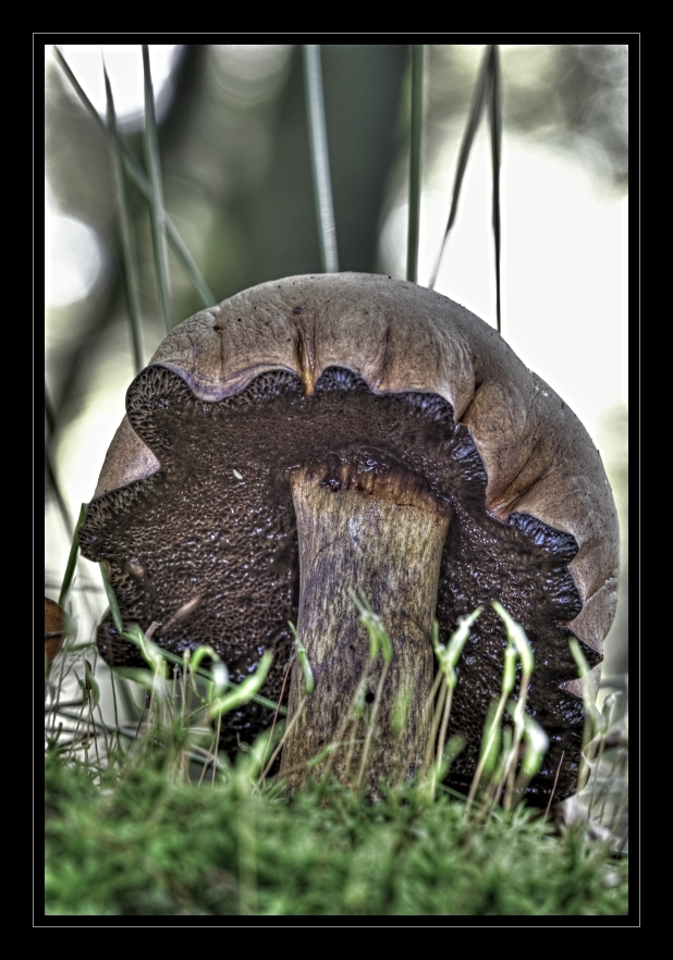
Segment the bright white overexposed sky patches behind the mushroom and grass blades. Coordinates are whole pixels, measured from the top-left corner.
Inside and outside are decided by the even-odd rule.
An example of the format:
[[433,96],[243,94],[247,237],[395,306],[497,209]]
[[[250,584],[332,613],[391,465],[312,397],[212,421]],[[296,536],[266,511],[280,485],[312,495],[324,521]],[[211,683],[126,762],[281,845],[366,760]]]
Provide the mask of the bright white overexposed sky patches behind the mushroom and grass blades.
[[[105,111],[99,48],[77,59],[64,53],[81,83]],[[174,48],[152,48],[156,90],[162,94]],[[127,69],[119,48],[106,51],[117,106],[131,124],[142,116],[142,62]],[[87,62],[89,67],[87,67]],[[156,63],[156,66],[155,66]],[[125,66],[126,65],[126,66]],[[98,77],[96,93],[87,69]],[[427,283],[445,229],[455,145],[448,149],[441,190],[426,192],[421,206],[419,281]],[[485,126],[469,158],[457,218],[444,250],[437,290],[495,325],[491,230],[490,151]],[[437,176],[432,175],[437,184]],[[310,188],[310,184],[307,184]],[[601,414],[626,398],[627,199],[601,196],[596,182],[568,155],[503,134],[502,334],[522,360],[546,380],[597,438]],[[87,295],[105,271],[106,253],[86,224],[62,218],[47,192],[47,298],[50,305]],[[380,255],[387,272],[404,275],[406,205],[388,218]],[[184,318],[181,318],[184,319]],[[49,324],[49,310],[48,310]],[[120,337],[127,333],[120,329]],[[113,335],[113,334],[111,334]],[[50,331],[47,330],[49,345]],[[149,344],[147,345],[149,346]],[[76,517],[90,500],[105,453],[123,414],[133,377],[110,343],[110,364],[99,371],[78,417],[58,448],[57,471]],[[54,521],[58,527],[59,520]],[[53,531],[56,540],[62,536]],[[53,540],[52,540],[53,543]],[[66,545],[57,553],[63,552]],[[63,569],[60,556],[49,567]]]

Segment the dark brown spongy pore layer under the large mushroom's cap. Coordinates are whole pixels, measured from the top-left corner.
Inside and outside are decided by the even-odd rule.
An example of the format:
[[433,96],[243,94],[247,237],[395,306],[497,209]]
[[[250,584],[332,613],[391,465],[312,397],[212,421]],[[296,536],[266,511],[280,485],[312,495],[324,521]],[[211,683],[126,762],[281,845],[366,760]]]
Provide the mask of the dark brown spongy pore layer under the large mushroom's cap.
[[[161,468],[94,501],[79,531],[84,555],[107,562],[124,623],[167,625],[154,639],[178,654],[212,645],[235,681],[272,650],[262,692],[277,699],[299,587],[291,471],[325,464],[329,480],[340,476],[340,464],[364,461],[372,470],[380,456],[383,470],[390,463],[413,470],[427,492],[453,506],[437,605],[442,642],[458,617],[484,607],[457,667],[449,735],[464,734],[467,746],[449,784],[469,787],[486,712],[500,691],[505,635],[490,605],[499,600],[533,645],[528,709],[550,737],[530,801],[547,802],[562,751],[554,797],[573,792],[582,704],[559,685],[576,676],[563,624],[582,607],[568,573],[577,545],[531,517],[513,515],[505,526],[486,513],[484,467],[450,404],[420,393],[376,396],[356,374],[335,368],[322,374],[313,396],[304,395],[294,374],[273,371],[234,397],[204,403],[176,374],[149,367],[130,387],[127,410]],[[195,598],[189,616],[175,620]],[[109,616],[98,643],[110,664],[142,662]],[[596,663],[596,654],[583,649]],[[250,740],[269,722],[269,712],[256,704],[228,715],[223,747],[234,752],[237,735]]]

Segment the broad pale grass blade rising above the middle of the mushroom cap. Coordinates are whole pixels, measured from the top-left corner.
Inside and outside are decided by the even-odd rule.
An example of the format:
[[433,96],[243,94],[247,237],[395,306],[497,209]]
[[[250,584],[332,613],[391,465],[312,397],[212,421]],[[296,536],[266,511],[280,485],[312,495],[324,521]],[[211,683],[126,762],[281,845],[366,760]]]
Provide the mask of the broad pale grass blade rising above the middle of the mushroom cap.
[[314,179],[314,193],[318,213],[320,267],[323,273],[338,273],[339,256],[337,251],[337,226],[334,224],[330,158],[327,148],[320,45],[304,44],[302,46],[302,52],[304,56],[304,75],[306,78],[306,107],[308,111],[308,131],[310,137],[310,169]]

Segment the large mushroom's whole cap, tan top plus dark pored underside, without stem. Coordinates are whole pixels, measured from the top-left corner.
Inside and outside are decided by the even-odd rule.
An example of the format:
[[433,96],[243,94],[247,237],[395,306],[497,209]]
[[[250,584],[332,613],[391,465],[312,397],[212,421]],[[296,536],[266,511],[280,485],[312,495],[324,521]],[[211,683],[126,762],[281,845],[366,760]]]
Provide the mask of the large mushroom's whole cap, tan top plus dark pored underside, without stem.
[[[567,639],[579,639],[597,680],[616,605],[616,512],[577,417],[494,330],[413,283],[289,278],[181,323],[126,406],[79,533],[84,554],[107,562],[126,619],[167,625],[199,596],[155,639],[175,651],[210,642],[234,677],[274,649],[266,692],[278,696],[298,592],[287,471],[320,461],[337,477],[367,451],[402,461],[455,510],[439,580],[443,639],[491,600],[523,624],[536,653],[528,703],[551,740],[529,792],[546,802],[562,750],[555,796],[572,792],[583,716]],[[458,787],[500,687],[503,642],[489,607],[461,662],[451,729],[470,743],[452,773]],[[135,657],[109,621],[99,643],[110,662]],[[232,737],[264,722],[250,706]]]

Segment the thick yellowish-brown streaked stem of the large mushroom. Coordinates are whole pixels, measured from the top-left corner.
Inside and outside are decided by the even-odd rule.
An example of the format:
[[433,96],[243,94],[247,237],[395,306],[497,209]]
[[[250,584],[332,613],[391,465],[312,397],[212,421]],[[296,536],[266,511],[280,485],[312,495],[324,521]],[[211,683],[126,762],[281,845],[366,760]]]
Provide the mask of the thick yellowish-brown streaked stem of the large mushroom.
[[[370,467],[370,460],[364,471],[342,463],[329,480],[319,469],[297,469],[291,477],[299,546],[297,631],[315,676],[314,692],[283,749],[280,773],[287,772],[291,789],[305,779],[306,762],[339,738],[347,746],[335,748],[311,774],[320,777],[329,764],[345,784],[359,771],[357,780],[376,795],[381,778],[403,779],[421,767],[430,736],[425,710],[433,678],[430,638],[452,508],[404,468]],[[383,659],[370,660],[350,587],[366,596],[392,641],[381,689]],[[346,712],[365,676],[364,711],[351,723]],[[401,698],[406,721],[399,729],[391,722]],[[295,663],[290,719],[303,699],[303,673]],[[363,746],[353,746],[358,740],[368,746],[364,771]]]

